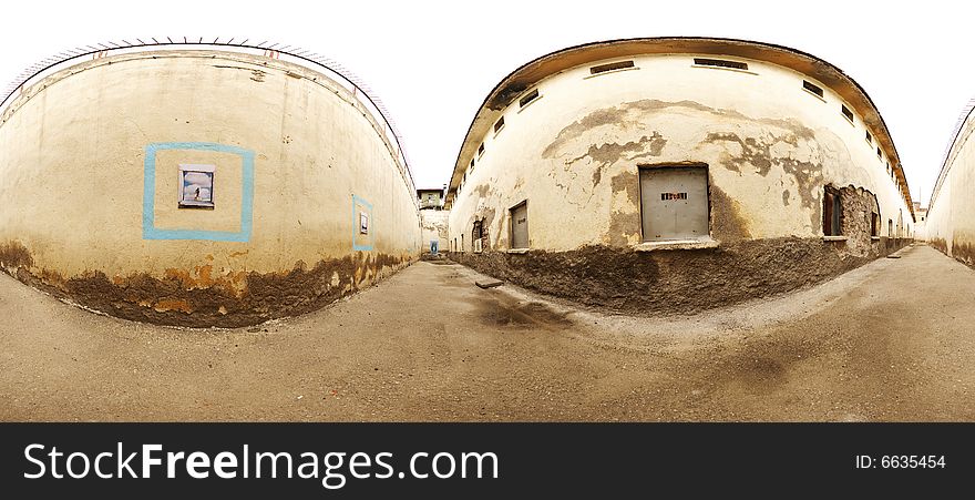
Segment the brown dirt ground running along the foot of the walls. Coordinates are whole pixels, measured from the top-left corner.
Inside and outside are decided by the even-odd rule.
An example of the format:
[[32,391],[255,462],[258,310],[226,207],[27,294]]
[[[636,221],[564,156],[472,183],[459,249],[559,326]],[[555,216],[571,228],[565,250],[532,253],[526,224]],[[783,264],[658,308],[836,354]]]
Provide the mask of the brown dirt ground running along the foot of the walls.
[[0,276],[0,420],[975,421],[975,271],[926,246],[704,315],[417,263],[259,328],[99,316]]

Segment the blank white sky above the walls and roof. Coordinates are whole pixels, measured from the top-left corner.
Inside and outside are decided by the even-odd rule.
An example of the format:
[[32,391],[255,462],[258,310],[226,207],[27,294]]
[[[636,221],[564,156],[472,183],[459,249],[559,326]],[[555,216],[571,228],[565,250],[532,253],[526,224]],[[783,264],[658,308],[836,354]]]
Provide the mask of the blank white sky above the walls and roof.
[[423,187],[448,181],[488,92],[532,59],[616,38],[741,38],[809,52],[856,80],[893,134],[912,196],[926,204],[975,95],[975,7],[911,3],[16,1],[0,11],[0,86],[40,59],[105,40],[236,35],[297,45],[339,61],[386,103]]

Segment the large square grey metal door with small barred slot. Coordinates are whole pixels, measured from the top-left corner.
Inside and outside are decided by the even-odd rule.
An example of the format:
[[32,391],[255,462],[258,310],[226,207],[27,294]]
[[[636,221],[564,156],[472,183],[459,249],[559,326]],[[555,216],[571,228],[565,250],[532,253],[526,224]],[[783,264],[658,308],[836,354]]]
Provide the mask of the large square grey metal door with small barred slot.
[[640,211],[645,242],[707,236],[707,169],[640,170]]

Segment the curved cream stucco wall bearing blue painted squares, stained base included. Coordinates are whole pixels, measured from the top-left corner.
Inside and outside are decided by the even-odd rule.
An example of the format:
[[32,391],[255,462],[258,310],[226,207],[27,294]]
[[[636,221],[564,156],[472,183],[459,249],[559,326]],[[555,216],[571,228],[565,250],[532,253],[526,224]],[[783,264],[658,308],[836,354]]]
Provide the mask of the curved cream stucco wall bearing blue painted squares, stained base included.
[[[78,64],[0,116],[0,262],[136,320],[238,326],[317,308],[419,256],[412,181],[378,130],[343,86],[279,60]],[[177,207],[181,164],[215,166],[214,210]]]

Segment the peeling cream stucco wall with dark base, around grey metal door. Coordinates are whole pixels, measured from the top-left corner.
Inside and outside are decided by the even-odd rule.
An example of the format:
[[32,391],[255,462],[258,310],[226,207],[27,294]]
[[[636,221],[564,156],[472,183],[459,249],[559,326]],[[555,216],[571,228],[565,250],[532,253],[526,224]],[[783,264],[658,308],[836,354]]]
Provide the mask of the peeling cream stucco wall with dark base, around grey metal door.
[[[737,71],[692,58],[624,58],[636,68],[592,75],[607,59],[526,89],[541,96],[525,106],[513,96],[452,200],[452,258],[585,303],[681,312],[820,282],[907,241],[890,156],[841,114],[838,94],[772,63],[728,58],[747,61]],[[707,165],[717,247],[640,252],[639,169],[668,164]],[[827,185],[843,188],[846,241],[823,241]],[[530,249],[511,253],[509,210],[525,201]],[[488,233],[480,254],[475,221]]]

